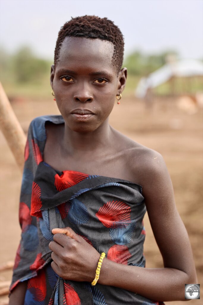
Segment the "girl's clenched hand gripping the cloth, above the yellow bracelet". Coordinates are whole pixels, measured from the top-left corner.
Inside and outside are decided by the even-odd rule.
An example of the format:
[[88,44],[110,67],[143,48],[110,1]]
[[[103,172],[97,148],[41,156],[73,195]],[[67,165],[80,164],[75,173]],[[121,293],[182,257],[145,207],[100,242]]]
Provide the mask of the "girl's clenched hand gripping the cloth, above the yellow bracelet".
[[52,233],[54,241],[49,243],[53,251],[52,269],[66,280],[92,282],[100,253],[71,228],[53,229]]

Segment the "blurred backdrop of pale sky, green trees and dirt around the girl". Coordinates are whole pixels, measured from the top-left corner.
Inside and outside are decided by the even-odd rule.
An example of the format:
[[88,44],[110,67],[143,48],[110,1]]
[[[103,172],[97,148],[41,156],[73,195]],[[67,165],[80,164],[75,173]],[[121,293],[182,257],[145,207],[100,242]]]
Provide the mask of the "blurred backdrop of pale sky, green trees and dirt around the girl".
[[[71,17],[107,17],[125,39],[128,82],[110,124],[160,152],[173,182],[177,209],[187,228],[198,282],[202,279],[203,1],[0,1],[0,80],[27,133],[30,121],[58,114],[49,83],[60,27]],[[0,265],[12,266],[20,238],[22,173],[0,134]],[[173,224],[171,224],[173,225]],[[146,267],[162,267],[145,216]],[[177,232],[178,234],[178,232]],[[5,268],[5,267],[2,267]],[[7,304],[12,269],[0,275],[0,304]],[[203,296],[202,296],[203,297]],[[168,305],[183,302],[166,302]],[[190,304],[201,304],[191,300]]]

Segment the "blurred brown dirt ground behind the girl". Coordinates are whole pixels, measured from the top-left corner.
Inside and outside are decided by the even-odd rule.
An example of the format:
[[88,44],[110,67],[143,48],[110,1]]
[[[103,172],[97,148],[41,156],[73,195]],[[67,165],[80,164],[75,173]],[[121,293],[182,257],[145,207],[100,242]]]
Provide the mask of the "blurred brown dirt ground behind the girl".
[[[47,101],[18,99],[12,102],[12,106],[25,132],[34,117],[58,114],[58,109],[51,98]],[[115,104],[110,117],[110,124],[114,128],[163,155],[173,182],[177,209],[191,241],[201,289],[203,287],[202,123],[202,109],[198,109],[195,114],[188,114],[178,109],[176,100],[171,98],[156,99],[153,107],[146,109],[143,102],[135,100],[133,96],[124,96],[120,106]],[[5,138],[2,134],[0,136],[0,264],[3,264],[14,260],[19,243],[18,202],[22,174]],[[162,267],[162,258],[147,215],[144,222],[146,267]],[[2,272],[0,283],[10,281],[11,276],[11,270]],[[200,300],[191,300],[189,304],[202,304],[202,298],[201,292]],[[7,300],[7,296],[0,297],[0,304],[8,303]],[[185,303],[166,302],[166,304],[183,305]]]

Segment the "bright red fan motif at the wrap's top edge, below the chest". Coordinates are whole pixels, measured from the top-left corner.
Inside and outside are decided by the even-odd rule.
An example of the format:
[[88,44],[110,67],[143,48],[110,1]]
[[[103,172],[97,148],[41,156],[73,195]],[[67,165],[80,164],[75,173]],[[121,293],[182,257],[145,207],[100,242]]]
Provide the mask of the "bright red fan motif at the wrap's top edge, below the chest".
[[89,177],[89,175],[87,174],[83,174],[73,170],[64,170],[62,173],[63,174],[61,176],[56,174],[54,177],[54,185],[56,186],[58,191],[65,190],[66,188],[76,185],[77,183]]

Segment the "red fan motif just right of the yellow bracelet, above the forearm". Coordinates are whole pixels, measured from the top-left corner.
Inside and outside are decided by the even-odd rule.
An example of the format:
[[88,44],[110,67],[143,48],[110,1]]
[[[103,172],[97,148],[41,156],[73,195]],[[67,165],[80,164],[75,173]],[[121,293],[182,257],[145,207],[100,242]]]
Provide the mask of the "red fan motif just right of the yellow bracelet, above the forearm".
[[128,259],[131,257],[131,253],[127,246],[114,245],[110,247],[107,254],[107,259],[112,260],[118,264],[128,264]]

